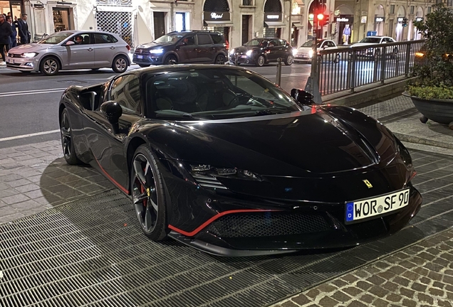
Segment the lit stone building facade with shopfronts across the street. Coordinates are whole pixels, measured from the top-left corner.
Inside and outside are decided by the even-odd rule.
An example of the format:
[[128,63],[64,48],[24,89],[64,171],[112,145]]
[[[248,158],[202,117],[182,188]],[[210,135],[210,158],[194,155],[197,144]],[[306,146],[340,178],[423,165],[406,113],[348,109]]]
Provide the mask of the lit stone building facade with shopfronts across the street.
[[[316,28],[338,44],[369,34],[414,40],[420,38],[414,21],[440,0],[320,1],[315,11],[313,0],[0,0],[0,13],[28,14],[32,40],[43,33],[93,29],[118,33],[133,48],[170,31],[207,29],[224,33],[234,48],[261,36],[297,46],[311,40]],[[453,0],[444,1],[453,5]],[[320,10],[326,24],[314,25],[313,15]]]

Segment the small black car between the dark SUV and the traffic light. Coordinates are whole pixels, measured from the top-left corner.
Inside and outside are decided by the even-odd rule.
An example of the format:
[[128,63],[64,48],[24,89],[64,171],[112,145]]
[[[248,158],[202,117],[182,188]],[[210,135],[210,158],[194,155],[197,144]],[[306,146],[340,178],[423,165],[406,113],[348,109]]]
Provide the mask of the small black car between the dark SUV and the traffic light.
[[293,64],[293,48],[281,38],[254,38],[229,53],[229,62],[232,64],[237,62],[263,66],[277,62],[278,58],[281,58],[285,65]]

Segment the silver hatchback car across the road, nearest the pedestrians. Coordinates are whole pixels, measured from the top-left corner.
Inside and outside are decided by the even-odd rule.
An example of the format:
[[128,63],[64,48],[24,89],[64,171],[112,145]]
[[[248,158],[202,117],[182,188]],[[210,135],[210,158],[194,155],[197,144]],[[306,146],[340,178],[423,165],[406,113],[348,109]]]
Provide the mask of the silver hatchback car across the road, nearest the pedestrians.
[[22,72],[56,75],[59,70],[112,68],[125,72],[130,46],[118,34],[99,31],[61,31],[41,41],[11,48],[6,67]]

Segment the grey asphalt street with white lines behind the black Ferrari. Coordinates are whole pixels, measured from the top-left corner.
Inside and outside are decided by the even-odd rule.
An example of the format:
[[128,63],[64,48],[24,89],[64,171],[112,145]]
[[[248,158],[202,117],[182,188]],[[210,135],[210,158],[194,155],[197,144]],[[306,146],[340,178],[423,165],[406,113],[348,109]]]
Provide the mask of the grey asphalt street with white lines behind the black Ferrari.
[[[137,65],[132,65],[129,69],[137,68]],[[275,81],[275,64],[262,68],[244,65],[244,68]],[[310,70],[311,65],[307,64],[283,65],[283,89],[290,92],[293,87],[305,88]],[[1,68],[0,148],[59,139],[57,110],[63,90],[70,85],[87,86],[105,82],[114,76],[115,73],[110,69],[59,72],[56,76],[47,77],[39,73],[25,74]]]

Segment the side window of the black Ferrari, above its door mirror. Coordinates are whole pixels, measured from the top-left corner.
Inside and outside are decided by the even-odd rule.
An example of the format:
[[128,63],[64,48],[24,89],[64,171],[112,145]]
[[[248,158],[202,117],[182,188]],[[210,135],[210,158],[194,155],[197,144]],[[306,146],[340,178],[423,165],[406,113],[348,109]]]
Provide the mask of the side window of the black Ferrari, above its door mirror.
[[120,104],[123,112],[140,114],[140,82],[135,75],[121,75],[110,87],[110,100]]

